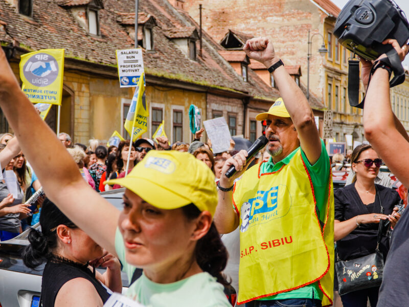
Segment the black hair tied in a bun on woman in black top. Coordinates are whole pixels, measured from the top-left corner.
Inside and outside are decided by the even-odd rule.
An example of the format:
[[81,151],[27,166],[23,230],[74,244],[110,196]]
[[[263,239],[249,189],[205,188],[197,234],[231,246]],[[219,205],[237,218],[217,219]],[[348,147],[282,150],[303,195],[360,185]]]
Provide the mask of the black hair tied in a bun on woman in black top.
[[47,198],[42,204],[40,225],[41,231],[34,228],[30,229],[28,235],[30,245],[26,246],[21,252],[24,264],[31,269],[53,257],[53,251],[57,247],[56,228],[58,225],[66,225],[70,228],[77,227]]

